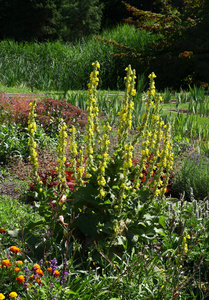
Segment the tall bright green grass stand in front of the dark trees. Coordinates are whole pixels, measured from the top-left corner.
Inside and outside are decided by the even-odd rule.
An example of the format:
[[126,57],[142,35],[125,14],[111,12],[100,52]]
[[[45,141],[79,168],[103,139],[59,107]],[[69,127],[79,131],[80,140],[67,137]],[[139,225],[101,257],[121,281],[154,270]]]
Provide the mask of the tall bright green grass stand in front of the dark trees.
[[[101,33],[111,40],[119,38],[127,44],[149,40],[145,32],[137,33],[128,24]],[[79,90],[86,88],[91,61],[97,59],[102,66],[100,87],[120,89],[123,85],[126,61],[110,56],[113,46],[95,38],[83,38],[77,43],[0,42],[0,82],[7,86],[27,86],[44,91]]]

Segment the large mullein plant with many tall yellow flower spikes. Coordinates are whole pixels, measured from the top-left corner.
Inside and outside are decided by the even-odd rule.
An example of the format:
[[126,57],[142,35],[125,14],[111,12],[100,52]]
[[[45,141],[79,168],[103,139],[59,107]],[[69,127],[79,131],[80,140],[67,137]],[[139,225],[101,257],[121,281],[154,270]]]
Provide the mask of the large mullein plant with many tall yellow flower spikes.
[[[84,234],[90,234],[96,239],[97,235],[102,234],[104,230],[105,236],[108,236],[107,239],[113,241],[121,230],[121,224],[125,224],[126,219],[132,218],[131,221],[135,229],[138,230],[138,221],[139,219],[140,222],[142,221],[143,214],[147,213],[148,207],[146,205],[143,212],[141,209],[139,210],[143,190],[145,190],[146,195],[148,195],[146,197],[150,201],[156,197],[158,199],[163,198],[165,194],[169,171],[172,169],[170,126],[164,124],[159,116],[159,105],[162,98],[155,97],[154,79],[156,76],[152,73],[149,76],[150,86],[147,92],[148,100],[145,113],[140,126],[137,128],[137,133],[135,135],[130,134],[136,94],[136,75],[129,65],[126,68],[123,106],[118,116],[118,142],[110,156],[111,127],[108,122],[103,125],[103,128],[99,127],[98,118],[97,86],[100,65],[98,62],[92,65],[93,71],[90,74],[88,84],[88,119],[83,145],[80,143],[78,145],[76,141],[75,127],[70,129],[70,165],[77,183],[77,188],[72,193],[67,189],[65,174],[67,127],[64,123],[60,126],[58,181],[60,186],[66,187],[64,193],[66,193],[66,197],[71,198],[71,204],[65,206],[66,210],[60,208],[63,215],[59,216],[59,220],[62,220],[61,223],[66,226],[67,223],[64,223],[64,219],[74,216],[72,220],[69,220],[69,224],[74,223],[73,226],[78,226]],[[31,148],[31,163],[36,182],[38,182],[38,163],[33,135],[36,129],[34,105],[32,104],[29,115],[29,146]],[[139,164],[134,165],[133,153],[137,144],[140,145],[141,158]],[[145,178],[143,177],[144,174],[147,174]],[[63,195],[63,189],[61,192]],[[77,216],[75,217],[75,215]],[[108,228],[105,228],[105,224],[108,224]],[[124,228],[127,230],[126,226]],[[137,232],[139,233],[139,231]]]

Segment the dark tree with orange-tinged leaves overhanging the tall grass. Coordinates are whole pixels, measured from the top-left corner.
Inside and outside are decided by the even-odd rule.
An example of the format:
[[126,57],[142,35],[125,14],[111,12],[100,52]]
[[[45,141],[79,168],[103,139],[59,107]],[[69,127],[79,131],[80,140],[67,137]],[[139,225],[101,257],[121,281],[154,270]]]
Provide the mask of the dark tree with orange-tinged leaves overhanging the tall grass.
[[[123,3],[132,14],[132,17],[125,21],[135,26],[137,31],[146,30],[151,36],[157,35],[158,40],[151,40],[143,49],[124,47],[105,39],[102,41],[122,49],[121,54],[113,55],[133,62],[138,74],[154,71],[160,88],[185,87],[186,78],[192,78],[193,83],[197,83],[197,79],[209,82],[208,1],[156,2],[158,12],[144,11]],[[198,63],[205,64],[204,74],[200,74]]]

